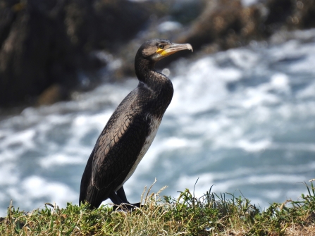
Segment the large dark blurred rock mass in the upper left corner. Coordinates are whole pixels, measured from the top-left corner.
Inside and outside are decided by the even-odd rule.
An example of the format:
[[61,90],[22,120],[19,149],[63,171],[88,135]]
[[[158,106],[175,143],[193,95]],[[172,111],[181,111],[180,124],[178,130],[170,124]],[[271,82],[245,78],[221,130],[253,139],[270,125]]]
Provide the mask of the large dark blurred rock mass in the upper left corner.
[[67,98],[80,86],[79,69],[101,66],[91,52],[126,42],[147,18],[124,0],[1,1],[0,106],[35,101],[43,91]]

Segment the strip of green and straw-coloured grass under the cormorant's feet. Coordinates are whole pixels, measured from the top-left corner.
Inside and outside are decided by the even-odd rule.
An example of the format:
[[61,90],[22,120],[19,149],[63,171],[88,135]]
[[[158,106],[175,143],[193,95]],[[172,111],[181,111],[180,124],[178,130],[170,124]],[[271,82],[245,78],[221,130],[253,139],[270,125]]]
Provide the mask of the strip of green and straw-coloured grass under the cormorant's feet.
[[[87,204],[52,204],[25,213],[8,207],[0,218],[0,235],[304,235],[315,236],[315,188],[297,201],[273,203],[261,211],[245,197],[206,192],[196,198],[190,190],[180,197],[142,197],[144,206],[132,212],[110,206],[89,210]],[[162,189],[163,190],[163,189]]]

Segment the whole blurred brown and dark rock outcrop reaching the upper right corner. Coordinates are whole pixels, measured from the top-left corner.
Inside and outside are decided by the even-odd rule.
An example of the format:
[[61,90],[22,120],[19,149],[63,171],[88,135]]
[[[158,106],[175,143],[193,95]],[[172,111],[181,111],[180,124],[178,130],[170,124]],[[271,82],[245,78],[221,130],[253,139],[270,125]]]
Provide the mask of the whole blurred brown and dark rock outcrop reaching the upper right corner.
[[240,0],[209,1],[203,13],[178,42],[190,42],[206,52],[268,39],[278,30],[315,27],[315,1],[267,0],[242,6]]

